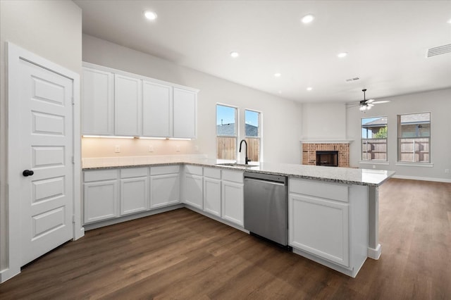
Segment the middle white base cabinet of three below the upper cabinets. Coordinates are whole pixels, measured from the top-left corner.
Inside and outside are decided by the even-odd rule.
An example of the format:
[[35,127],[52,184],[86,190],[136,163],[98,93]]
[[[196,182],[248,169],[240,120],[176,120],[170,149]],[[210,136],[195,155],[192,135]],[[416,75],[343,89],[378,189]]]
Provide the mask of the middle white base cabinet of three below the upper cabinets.
[[149,208],[149,168],[121,169],[121,215]]

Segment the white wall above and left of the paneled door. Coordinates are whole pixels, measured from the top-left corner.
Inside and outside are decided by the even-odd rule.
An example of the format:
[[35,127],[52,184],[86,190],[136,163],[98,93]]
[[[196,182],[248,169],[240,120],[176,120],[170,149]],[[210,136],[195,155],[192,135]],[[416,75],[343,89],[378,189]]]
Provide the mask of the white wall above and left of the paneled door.
[[[82,13],[72,1],[0,1],[0,270],[8,268],[5,42],[81,73]],[[15,116],[13,116],[15,117]]]

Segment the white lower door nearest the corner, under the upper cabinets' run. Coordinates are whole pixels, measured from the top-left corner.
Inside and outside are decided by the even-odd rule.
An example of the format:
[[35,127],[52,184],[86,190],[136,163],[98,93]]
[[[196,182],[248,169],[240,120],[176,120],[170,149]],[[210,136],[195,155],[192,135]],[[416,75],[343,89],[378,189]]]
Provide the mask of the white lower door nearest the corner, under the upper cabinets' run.
[[180,202],[180,175],[151,176],[150,189],[150,208],[177,204]]

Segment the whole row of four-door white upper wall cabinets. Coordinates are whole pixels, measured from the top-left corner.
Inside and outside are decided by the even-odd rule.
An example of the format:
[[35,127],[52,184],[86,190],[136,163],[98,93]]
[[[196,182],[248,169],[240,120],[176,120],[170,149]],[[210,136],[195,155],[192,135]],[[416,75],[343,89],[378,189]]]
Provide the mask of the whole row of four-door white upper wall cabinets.
[[197,89],[83,63],[82,134],[197,137]]

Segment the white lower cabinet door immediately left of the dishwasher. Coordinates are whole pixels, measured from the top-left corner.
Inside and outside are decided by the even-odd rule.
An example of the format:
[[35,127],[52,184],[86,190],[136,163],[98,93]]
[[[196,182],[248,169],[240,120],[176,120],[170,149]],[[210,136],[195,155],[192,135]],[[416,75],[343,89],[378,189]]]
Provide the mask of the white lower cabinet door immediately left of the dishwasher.
[[243,226],[243,185],[236,182],[222,182],[223,219]]

